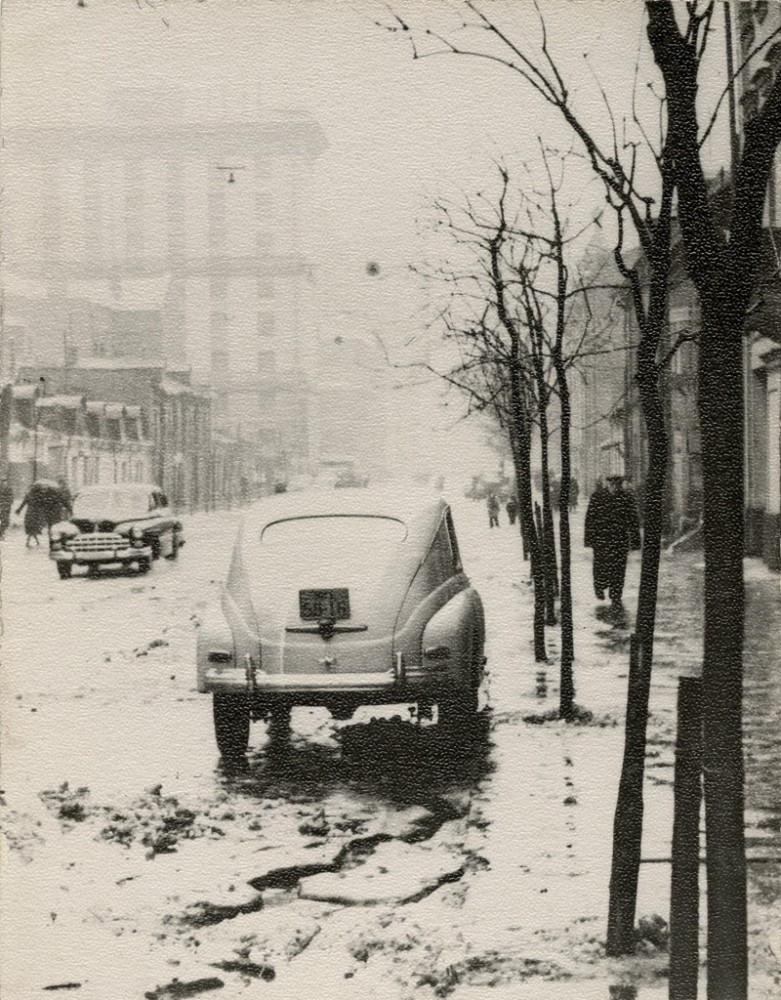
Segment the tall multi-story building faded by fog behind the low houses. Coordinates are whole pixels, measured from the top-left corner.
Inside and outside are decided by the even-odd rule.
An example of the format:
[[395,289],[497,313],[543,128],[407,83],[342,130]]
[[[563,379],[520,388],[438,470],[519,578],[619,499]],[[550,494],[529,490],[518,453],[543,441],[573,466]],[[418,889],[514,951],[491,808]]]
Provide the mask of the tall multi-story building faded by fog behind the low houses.
[[312,419],[303,192],[325,140],[305,113],[190,103],[119,92],[100,126],[5,130],[5,356],[187,368],[223,433],[295,467]]

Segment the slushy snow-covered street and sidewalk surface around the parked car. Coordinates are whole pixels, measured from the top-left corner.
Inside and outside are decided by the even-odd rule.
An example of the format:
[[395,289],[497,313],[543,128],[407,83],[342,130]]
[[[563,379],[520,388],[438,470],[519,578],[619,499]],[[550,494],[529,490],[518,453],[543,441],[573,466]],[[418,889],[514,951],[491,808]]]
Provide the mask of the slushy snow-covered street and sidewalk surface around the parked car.
[[[595,607],[576,516],[577,702],[593,718],[530,721],[556,705],[556,630],[552,662],[535,665],[515,530],[489,531],[479,503],[455,513],[488,620],[478,731],[453,746],[393,710],[336,724],[299,709],[289,744],[253,727],[240,774],[219,767],[210,702],[194,690],[195,627],[237,515],[188,519],[179,561],[144,577],[60,581],[11,533],[4,998],[657,995],[667,954],[650,925],[631,962],[602,948],[629,622]],[[769,998],[781,976],[781,602],[777,578],[747,569],[752,996]],[[629,608],[637,575],[633,556]],[[677,672],[699,659],[700,578],[696,555],[665,562],[640,913],[669,905],[673,706]]]

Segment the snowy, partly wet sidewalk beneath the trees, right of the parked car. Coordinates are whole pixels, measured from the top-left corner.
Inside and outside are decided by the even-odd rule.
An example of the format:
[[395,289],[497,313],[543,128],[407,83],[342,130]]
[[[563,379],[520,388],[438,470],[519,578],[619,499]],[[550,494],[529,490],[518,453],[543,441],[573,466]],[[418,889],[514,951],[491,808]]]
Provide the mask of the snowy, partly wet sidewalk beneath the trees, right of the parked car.
[[[469,517],[466,511],[463,515]],[[521,562],[517,535],[504,525],[499,531],[485,532],[479,555],[475,550],[471,568],[490,615],[489,690],[494,712],[496,772],[486,782],[481,803],[490,831],[483,849],[489,868],[475,878],[464,906],[473,915],[473,926],[478,933],[470,937],[470,948],[493,948],[505,956],[514,954],[518,969],[525,963],[528,975],[535,977],[528,995],[540,1000],[587,994],[584,983],[579,983],[575,992],[568,992],[560,982],[543,988],[539,982],[539,963],[550,966],[550,976],[543,975],[543,979],[598,977],[602,985],[595,986],[596,992],[588,995],[607,996],[607,984],[616,989],[622,984],[642,984],[638,995],[651,997],[655,995],[654,984],[666,974],[666,952],[646,941],[637,958],[611,962],[603,957],[601,945],[607,915],[613,813],[623,751],[629,636],[637,597],[639,553],[630,557],[624,594],[627,614],[619,621],[594,597],[590,552],[582,547],[582,513],[573,518],[572,538],[576,701],[593,713],[589,725],[566,726],[559,722],[534,725],[521,721],[557,706],[558,629],[546,630],[552,662],[534,664],[532,591],[524,579],[528,569]],[[701,659],[700,559],[694,553],[663,560],[638,917],[659,914],[667,919],[669,915],[675,698],[677,677],[689,673]],[[753,605],[759,609],[765,628],[770,629],[765,636],[777,635],[781,623],[777,578],[753,563],[747,568],[749,620]],[[747,799],[751,804],[752,797],[775,798],[775,802],[765,803],[765,819],[776,821],[775,827],[773,822],[766,822],[764,828],[760,823],[759,830],[754,831],[760,836],[752,837],[749,830],[749,854],[753,852],[757,857],[781,855],[778,796],[771,791],[775,782],[768,787],[765,781],[765,787],[756,788],[752,780],[757,774],[751,766],[753,755],[759,750],[767,773],[770,759],[775,761],[776,768],[781,767],[777,733],[760,747],[752,740],[754,733],[766,734],[766,727],[756,718],[758,706],[752,700],[754,675],[762,672],[764,676],[767,660],[772,664],[774,658],[777,661],[778,653],[772,638],[764,644],[760,641],[759,648],[748,641]],[[777,688],[778,685],[773,692],[776,704]],[[767,697],[766,681],[760,689]],[[764,707],[767,710],[769,706]],[[772,712],[768,715],[769,721],[777,718]],[[761,774],[757,783],[763,783]],[[752,818],[756,816],[750,812],[747,823]],[[774,829],[776,833],[772,836]],[[770,867],[763,866],[762,874],[769,875]],[[704,884],[704,870],[702,881]],[[772,981],[773,959],[768,948],[768,934],[777,934],[779,925],[777,897],[776,883],[771,907],[759,910],[752,904],[755,960],[752,995],[755,997],[765,995],[763,988],[767,988],[768,996],[777,988]],[[770,930],[772,926],[775,932]],[[777,964],[776,970],[781,975]],[[518,992],[517,983],[513,989],[515,992],[506,994],[508,997],[527,995]],[[479,995],[469,988],[454,993],[464,1000]],[[492,991],[491,995],[504,994]]]

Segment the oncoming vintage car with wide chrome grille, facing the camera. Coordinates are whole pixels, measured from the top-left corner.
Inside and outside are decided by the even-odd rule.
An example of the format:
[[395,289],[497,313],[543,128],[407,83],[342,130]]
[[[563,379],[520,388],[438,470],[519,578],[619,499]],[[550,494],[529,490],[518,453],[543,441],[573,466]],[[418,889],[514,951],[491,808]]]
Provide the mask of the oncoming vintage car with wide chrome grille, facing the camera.
[[74,566],[135,563],[146,573],[154,559],[176,559],[184,545],[182,524],[168,499],[148,483],[85,486],[73,499],[70,520],[52,526],[49,555],[67,579]]

